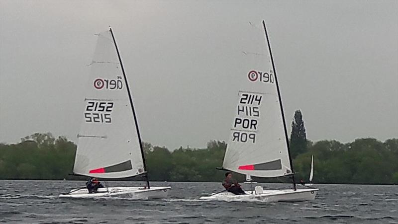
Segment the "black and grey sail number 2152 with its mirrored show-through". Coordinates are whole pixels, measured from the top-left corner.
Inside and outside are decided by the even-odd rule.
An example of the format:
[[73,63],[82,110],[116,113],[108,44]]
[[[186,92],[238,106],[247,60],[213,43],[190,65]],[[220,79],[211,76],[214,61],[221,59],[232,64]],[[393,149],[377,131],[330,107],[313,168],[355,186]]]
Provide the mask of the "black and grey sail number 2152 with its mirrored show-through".
[[113,105],[114,103],[109,101],[87,101],[84,113],[85,121],[88,123],[112,123]]

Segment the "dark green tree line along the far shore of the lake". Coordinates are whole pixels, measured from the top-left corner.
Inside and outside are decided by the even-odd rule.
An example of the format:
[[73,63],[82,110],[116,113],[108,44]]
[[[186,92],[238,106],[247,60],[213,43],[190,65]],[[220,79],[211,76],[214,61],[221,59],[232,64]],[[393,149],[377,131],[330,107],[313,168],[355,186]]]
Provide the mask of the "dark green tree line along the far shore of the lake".
[[[311,155],[314,156],[315,183],[398,184],[398,139],[356,139],[351,143],[335,140],[311,142],[306,139],[302,114],[292,122],[290,149],[296,179],[308,181]],[[17,144],[0,144],[0,179],[87,179],[72,173],[77,146],[65,137],[35,133]],[[205,149],[165,147],[143,143],[149,179],[152,181],[220,181],[226,149],[223,141],[210,141]],[[243,175],[235,174],[243,181]],[[133,178],[136,179],[136,178]],[[261,182],[290,182],[289,178]]]

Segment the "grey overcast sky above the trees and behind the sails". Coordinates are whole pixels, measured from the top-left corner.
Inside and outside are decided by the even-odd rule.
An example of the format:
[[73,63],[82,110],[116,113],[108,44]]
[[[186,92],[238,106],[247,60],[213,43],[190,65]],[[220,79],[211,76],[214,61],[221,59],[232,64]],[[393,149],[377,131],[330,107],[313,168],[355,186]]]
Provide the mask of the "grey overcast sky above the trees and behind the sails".
[[108,25],[144,141],[227,141],[239,66],[228,54],[239,26],[262,19],[289,124],[301,109],[312,141],[398,138],[396,0],[0,0],[0,142],[35,132],[77,141],[94,34]]

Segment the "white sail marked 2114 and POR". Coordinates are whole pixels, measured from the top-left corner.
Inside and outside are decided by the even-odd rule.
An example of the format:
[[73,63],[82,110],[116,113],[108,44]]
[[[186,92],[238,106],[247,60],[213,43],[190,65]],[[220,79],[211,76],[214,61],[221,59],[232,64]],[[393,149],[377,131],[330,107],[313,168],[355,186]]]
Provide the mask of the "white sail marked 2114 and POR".
[[276,74],[265,35],[265,23],[240,29],[237,105],[223,168],[257,177],[292,173]]

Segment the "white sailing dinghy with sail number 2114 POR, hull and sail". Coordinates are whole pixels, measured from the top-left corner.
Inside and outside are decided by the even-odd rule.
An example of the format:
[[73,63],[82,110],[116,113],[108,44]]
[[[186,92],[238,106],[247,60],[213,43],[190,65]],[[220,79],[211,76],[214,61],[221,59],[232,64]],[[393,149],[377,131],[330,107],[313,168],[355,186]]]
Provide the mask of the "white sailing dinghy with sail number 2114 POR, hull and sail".
[[241,30],[248,49],[242,52],[242,57],[239,58],[242,64],[237,70],[237,76],[233,77],[239,80],[240,85],[238,103],[234,109],[234,121],[221,169],[244,174],[247,181],[252,181],[252,176],[291,176],[293,187],[286,190],[265,190],[256,186],[254,190],[246,191],[246,195],[223,191],[200,199],[263,202],[313,200],[318,189],[296,188],[282,100],[265,21],[261,26],[249,24],[247,29]]

